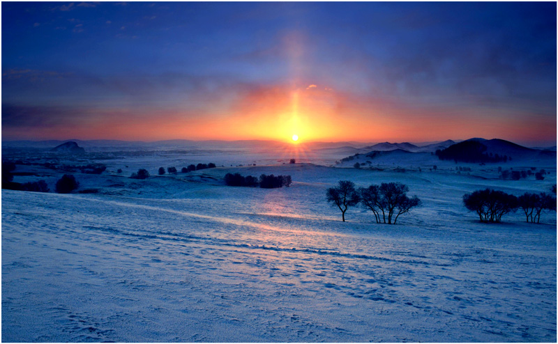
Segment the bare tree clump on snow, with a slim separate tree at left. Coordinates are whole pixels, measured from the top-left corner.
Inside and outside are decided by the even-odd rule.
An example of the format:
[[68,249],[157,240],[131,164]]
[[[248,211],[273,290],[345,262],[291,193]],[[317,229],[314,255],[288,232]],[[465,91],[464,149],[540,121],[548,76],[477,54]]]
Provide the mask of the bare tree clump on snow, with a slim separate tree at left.
[[337,187],[327,189],[326,198],[341,210],[343,221],[347,209],[360,203],[366,210],[372,210],[378,224],[382,221],[384,224],[395,224],[401,214],[421,205],[421,200],[416,196],[407,196],[408,191],[409,187],[400,182],[382,182],[381,185],[356,189],[354,182],[340,180]]

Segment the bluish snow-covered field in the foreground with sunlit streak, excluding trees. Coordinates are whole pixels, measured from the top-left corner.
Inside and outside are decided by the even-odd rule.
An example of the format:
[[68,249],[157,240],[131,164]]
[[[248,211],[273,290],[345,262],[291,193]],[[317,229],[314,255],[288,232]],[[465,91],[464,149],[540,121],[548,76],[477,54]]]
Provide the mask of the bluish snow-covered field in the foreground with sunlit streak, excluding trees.
[[[153,166],[180,170],[165,159]],[[555,168],[535,182],[452,165],[108,171],[76,174],[98,194],[2,190],[2,341],[555,342],[556,213],[480,224],[461,201],[485,187],[548,191]],[[227,172],[294,182],[226,187]],[[325,201],[338,180],[403,182],[423,206],[397,226],[360,208],[343,223]]]

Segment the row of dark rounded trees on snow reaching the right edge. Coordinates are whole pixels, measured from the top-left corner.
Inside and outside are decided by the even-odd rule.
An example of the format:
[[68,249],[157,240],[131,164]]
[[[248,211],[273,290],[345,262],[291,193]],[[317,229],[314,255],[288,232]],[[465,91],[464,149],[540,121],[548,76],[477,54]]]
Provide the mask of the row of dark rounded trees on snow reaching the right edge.
[[502,221],[502,216],[521,209],[527,222],[538,224],[543,210],[556,211],[556,198],[541,192],[526,192],[519,197],[493,189],[477,190],[463,196],[465,208],[478,214],[481,222]]

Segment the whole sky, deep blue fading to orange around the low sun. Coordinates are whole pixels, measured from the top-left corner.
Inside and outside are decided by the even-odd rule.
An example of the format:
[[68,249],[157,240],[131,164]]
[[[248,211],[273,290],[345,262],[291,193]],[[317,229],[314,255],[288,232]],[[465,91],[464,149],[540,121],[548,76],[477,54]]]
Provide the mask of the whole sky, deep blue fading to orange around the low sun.
[[556,145],[555,2],[2,2],[2,139]]

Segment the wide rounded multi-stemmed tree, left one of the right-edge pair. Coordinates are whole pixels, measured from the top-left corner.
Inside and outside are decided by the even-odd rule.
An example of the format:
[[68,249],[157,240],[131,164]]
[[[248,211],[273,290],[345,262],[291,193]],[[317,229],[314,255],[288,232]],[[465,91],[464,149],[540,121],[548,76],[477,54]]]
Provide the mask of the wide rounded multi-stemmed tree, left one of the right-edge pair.
[[478,214],[481,222],[500,222],[502,216],[518,209],[518,198],[504,191],[484,189],[463,195],[465,208]]

